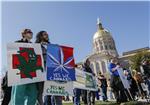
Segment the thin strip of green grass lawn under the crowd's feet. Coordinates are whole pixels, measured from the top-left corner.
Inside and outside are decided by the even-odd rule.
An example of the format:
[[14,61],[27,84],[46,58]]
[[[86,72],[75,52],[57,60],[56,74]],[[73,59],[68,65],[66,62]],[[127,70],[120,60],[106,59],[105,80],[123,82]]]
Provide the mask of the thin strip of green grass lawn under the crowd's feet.
[[[73,105],[72,103],[63,103],[63,105]],[[84,105],[81,102],[81,105]],[[96,105],[120,105],[117,104],[116,102],[110,101],[110,102],[103,102],[103,101],[96,101]],[[138,101],[131,101],[131,102],[126,102],[124,105],[150,105],[150,103],[146,102],[138,102]]]

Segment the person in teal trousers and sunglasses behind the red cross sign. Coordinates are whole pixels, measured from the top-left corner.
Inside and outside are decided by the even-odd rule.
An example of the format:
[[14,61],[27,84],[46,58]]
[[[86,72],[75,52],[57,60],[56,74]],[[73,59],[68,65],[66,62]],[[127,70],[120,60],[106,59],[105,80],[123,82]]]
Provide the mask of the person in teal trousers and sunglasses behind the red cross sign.
[[[16,43],[31,43],[33,33],[30,29],[24,29],[22,39]],[[35,105],[37,99],[37,87],[35,83],[16,85],[12,87],[10,105]]]

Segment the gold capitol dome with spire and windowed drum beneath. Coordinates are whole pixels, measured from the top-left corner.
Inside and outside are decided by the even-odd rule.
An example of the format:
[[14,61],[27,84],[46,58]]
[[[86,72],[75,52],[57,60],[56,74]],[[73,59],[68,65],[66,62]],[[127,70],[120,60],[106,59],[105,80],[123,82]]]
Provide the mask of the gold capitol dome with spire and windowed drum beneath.
[[93,36],[94,53],[101,53],[117,57],[118,53],[111,33],[103,28],[99,19],[97,20],[97,26],[97,32]]

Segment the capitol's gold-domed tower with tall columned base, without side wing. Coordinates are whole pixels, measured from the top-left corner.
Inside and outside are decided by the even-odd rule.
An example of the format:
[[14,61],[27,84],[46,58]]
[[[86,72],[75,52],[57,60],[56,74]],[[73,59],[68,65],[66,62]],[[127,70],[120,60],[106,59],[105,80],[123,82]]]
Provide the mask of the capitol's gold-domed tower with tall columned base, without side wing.
[[97,19],[97,31],[93,36],[93,53],[87,57],[91,62],[94,73],[96,75],[99,72],[105,74],[108,71],[108,63],[112,57],[118,57],[115,41],[111,33]]

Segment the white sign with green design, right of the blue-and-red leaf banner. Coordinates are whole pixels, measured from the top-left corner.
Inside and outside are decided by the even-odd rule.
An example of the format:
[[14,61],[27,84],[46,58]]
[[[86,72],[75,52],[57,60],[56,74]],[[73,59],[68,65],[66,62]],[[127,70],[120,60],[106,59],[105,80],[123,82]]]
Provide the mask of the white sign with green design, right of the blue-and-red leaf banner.
[[74,88],[97,91],[95,77],[83,70],[76,69],[76,81],[73,82]]

